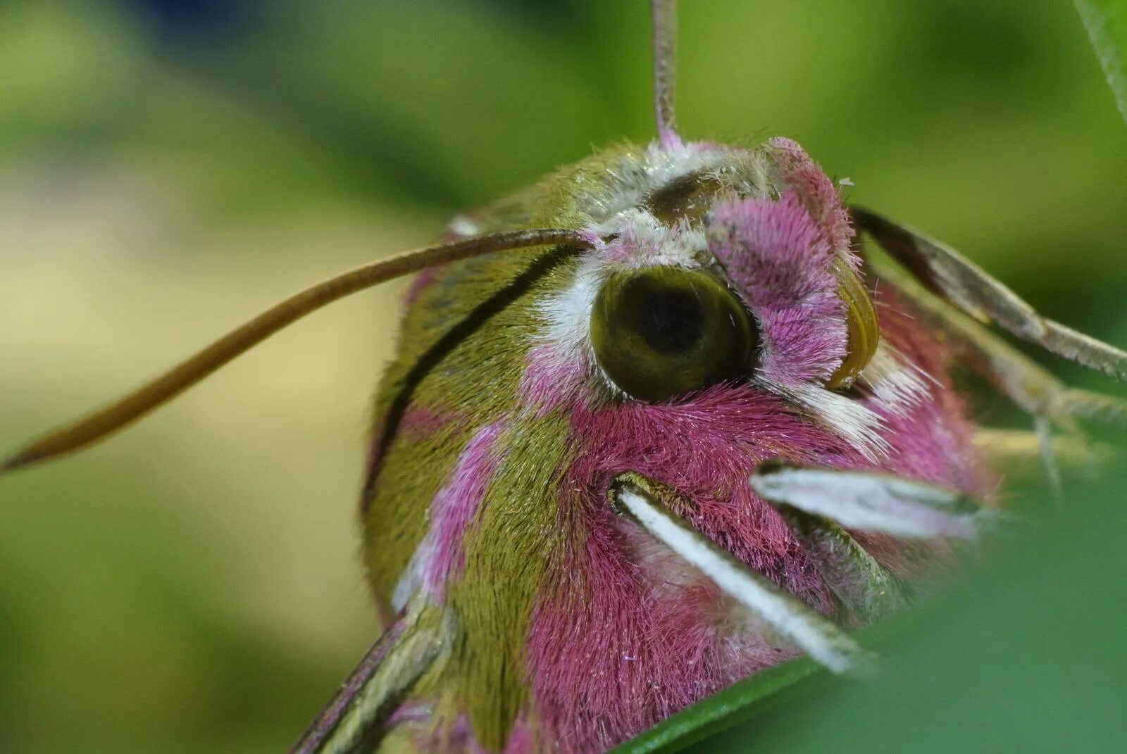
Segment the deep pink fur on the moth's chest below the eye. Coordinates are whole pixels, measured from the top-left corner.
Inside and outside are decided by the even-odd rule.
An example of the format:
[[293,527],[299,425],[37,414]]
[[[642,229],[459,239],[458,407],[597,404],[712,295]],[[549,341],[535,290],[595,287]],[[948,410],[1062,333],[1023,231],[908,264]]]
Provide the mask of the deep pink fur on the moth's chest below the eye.
[[[890,296],[890,345],[935,375],[947,353]],[[980,493],[969,426],[944,376],[906,413],[888,415],[881,468]],[[678,490],[693,524],[815,607],[829,592],[779,515],[747,477],[758,462],[872,468],[845,441],[754,385],[717,385],[673,405],[579,407],[577,452],[561,485],[564,545],[551,553],[526,664],[542,735],[560,752],[600,752],[669,713],[790,656],[770,645],[699,574],[613,514],[605,490],[637,471]],[[969,469],[969,470],[968,470]],[[911,578],[919,544],[861,538],[882,565]],[[924,545],[932,547],[932,545]],[[600,668],[597,672],[593,668]]]

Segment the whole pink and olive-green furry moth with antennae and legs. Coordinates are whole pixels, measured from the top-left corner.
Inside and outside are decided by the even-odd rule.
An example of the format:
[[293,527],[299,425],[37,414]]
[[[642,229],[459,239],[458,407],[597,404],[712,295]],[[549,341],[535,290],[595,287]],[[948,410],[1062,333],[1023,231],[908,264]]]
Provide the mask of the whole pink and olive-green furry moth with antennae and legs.
[[[1118,379],[1127,354],[848,206],[795,142],[683,139],[673,12],[653,5],[651,143],[308,289],[3,464],[96,442],[419,273],[361,503],[385,632],[294,751],[596,752],[800,653],[863,672],[850,631],[926,596],[997,518],[994,464],[1051,473],[1054,433],[1125,415],[999,332]],[[1035,431],[974,426],[956,363]]]

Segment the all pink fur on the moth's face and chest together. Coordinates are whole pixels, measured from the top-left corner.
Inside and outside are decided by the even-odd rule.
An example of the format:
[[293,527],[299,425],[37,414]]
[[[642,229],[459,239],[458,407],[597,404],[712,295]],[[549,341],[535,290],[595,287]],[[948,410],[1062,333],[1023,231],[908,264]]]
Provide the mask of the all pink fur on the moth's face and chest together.
[[[824,380],[846,347],[832,263],[849,250],[849,215],[828,178],[797,144],[775,140],[778,199],[719,204],[709,215],[710,250],[760,319],[762,374],[783,384]],[[932,375],[920,400],[890,407],[858,397],[884,420],[889,451],[879,464],[753,383],[721,384],[669,405],[576,401],[576,455],[561,485],[562,547],[551,553],[548,594],[526,647],[542,736],[560,752],[600,752],[669,713],[791,655],[700,574],[611,512],[605,490],[636,471],[676,489],[706,536],[818,610],[833,600],[774,509],[747,477],[765,459],[872,469],[982,494],[987,484],[965,409],[946,371],[949,354],[893,292],[877,296],[884,339]],[[547,349],[545,349],[547,351]],[[539,356],[539,357],[538,357]],[[576,380],[534,354],[543,383]],[[942,544],[859,535],[884,566],[920,577]],[[597,671],[593,668],[598,668]]]

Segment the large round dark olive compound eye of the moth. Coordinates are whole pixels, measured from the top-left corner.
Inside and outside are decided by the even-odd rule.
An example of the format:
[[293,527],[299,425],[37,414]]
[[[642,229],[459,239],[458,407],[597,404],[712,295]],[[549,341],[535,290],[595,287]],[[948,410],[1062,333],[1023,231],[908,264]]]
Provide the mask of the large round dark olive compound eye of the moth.
[[746,372],[758,334],[712,275],[654,266],[603,283],[591,312],[591,341],[623,392],[660,401]]

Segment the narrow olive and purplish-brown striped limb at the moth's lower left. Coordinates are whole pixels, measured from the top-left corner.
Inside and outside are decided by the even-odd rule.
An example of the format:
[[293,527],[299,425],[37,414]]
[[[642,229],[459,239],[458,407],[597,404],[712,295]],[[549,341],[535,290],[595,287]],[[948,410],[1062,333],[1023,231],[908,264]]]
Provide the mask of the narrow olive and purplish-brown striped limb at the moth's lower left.
[[450,649],[450,618],[431,604],[408,604],[372,645],[290,754],[361,754],[387,733],[403,694]]

